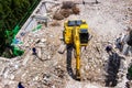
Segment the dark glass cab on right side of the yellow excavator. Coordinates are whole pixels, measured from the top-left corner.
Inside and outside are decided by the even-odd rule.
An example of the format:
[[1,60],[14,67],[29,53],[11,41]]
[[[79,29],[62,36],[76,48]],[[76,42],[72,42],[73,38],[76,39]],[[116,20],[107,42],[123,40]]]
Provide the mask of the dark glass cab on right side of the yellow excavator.
[[86,29],[81,29],[80,33],[79,33],[79,37],[80,37],[80,43],[88,43],[88,38],[89,38],[89,33]]

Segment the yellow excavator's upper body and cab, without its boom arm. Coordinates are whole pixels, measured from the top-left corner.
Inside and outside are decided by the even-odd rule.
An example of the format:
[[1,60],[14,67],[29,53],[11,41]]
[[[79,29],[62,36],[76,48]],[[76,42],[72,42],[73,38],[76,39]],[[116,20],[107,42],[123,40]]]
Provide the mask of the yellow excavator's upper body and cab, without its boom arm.
[[87,46],[88,38],[89,38],[89,32],[88,32],[88,24],[85,20],[69,20],[64,23],[64,41],[66,44],[72,44],[72,32],[74,30],[74,26],[78,26],[79,32],[79,40],[81,46]]

